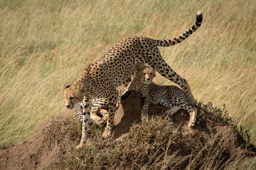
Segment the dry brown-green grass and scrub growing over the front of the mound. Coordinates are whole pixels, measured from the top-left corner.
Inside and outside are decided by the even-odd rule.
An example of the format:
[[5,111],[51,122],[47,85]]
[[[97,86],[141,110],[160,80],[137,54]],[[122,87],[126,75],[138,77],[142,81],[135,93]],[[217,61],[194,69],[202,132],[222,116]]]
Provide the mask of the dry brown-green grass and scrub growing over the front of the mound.
[[[186,125],[154,116],[148,123],[134,124],[123,141],[106,141],[101,137],[103,129],[91,126],[82,150],[74,148],[81,134],[78,120],[51,120],[51,127],[45,129],[45,138],[58,143],[59,152],[49,168],[255,169],[255,147],[250,150],[247,145],[250,139],[241,138],[234,122],[223,117],[225,108],[213,107],[211,103],[198,103],[197,107],[198,122],[193,132],[188,132]],[[205,125],[207,128],[200,130]],[[220,132],[218,127],[228,131],[221,134],[221,138],[216,133]],[[232,127],[235,132],[230,131]],[[228,141],[230,136],[236,138],[235,142]]]

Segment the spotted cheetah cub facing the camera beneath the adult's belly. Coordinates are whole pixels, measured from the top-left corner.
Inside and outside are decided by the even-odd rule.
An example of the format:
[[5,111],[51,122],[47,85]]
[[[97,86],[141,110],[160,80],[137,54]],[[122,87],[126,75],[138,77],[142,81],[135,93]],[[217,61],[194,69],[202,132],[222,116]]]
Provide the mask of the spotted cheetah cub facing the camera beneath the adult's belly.
[[189,113],[189,127],[194,127],[196,122],[197,109],[189,104],[189,100],[183,90],[174,85],[157,85],[152,80],[156,71],[152,67],[144,66],[138,74],[132,76],[129,89],[138,91],[141,97],[145,97],[141,117],[148,120],[148,107],[150,104],[161,104],[169,108],[166,113],[172,116],[180,109]]

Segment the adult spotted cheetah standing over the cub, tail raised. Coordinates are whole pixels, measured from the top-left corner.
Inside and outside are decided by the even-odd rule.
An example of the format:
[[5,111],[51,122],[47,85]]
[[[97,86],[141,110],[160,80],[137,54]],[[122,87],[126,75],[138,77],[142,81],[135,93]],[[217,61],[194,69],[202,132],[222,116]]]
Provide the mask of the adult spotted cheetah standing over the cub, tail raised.
[[168,66],[157,46],[172,46],[180,43],[200,27],[202,19],[202,11],[198,11],[195,24],[188,31],[173,39],[159,40],[137,36],[129,37],[113,46],[95,62],[88,64],[83,72],[79,74],[77,80],[72,85],[66,86],[64,99],[67,108],[72,109],[75,104],[84,101],[82,138],[77,148],[81,148],[85,142],[84,129],[88,119],[86,117],[90,117],[92,100],[95,98],[108,101],[108,121],[102,136],[103,138],[110,136],[118,101],[116,88],[131,74],[132,68],[137,64],[147,63],[162,76],[177,83],[188,96],[190,103],[195,104],[188,82]]

